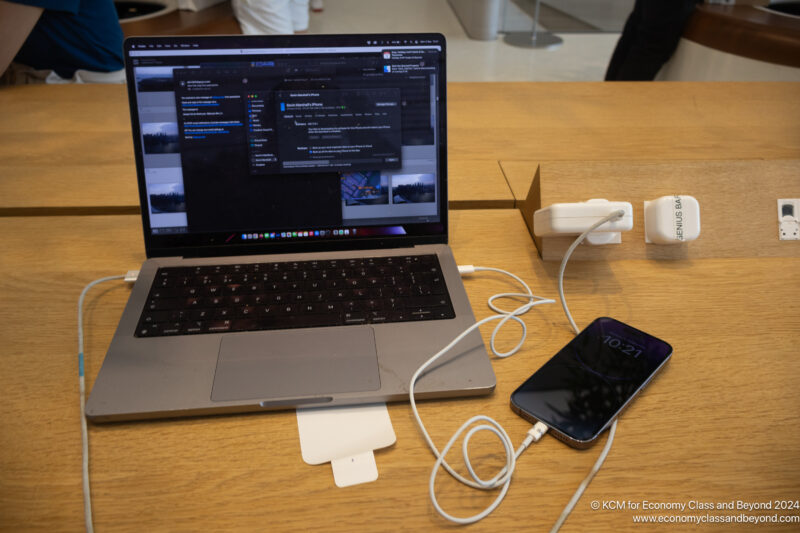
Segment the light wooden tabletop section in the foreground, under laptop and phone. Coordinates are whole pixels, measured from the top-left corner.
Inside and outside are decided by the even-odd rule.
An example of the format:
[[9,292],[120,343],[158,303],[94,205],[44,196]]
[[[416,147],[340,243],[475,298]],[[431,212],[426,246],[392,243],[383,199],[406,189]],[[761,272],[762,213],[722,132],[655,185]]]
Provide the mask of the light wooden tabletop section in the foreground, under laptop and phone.
[[[5,217],[0,235],[0,529],[80,530],[76,303],[89,281],[137,267],[144,255],[139,219]],[[517,210],[455,211],[451,240],[460,264],[505,268],[534,292],[556,295],[558,265],[538,259]],[[490,294],[516,290],[495,275],[465,284],[478,317],[488,315]],[[566,292],[578,324],[614,316],[667,340],[675,353],[621,418],[605,466],[564,531],[641,530],[635,512],[595,511],[592,501],[800,497],[800,259],[575,262]],[[87,298],[89,388],[128,293],[122,282],[110,282]],[[509,395],[572,337],[556,305],[525,319],[524,349],[494,361],[492,396],[422,404],[440,446],[479,413],[498,420],[514,442],[522,439],[529,425],[512,414]],[[502,335],[502,345],[515,341],[514,329]],[[483,333],[488,341],[489,331]],[[98,531],[452,531],[427,500],[433,457],[408,405],[390,405],[389,412],[397,443],[376,453],[380,478],[347,489],[334,486],[329,466],[303,463],[291,411],[90,425],[95,525]],[[479,472],[499,467],[493,439],[478,437],[474,448]],[[545,437],[520,459],[505,502],[470,531],[549,529],[599,451],[600,445],[576,451]],[[444,478],[438,489],[443,505],[460,514],[493,498]],[[800,511],[754,514],[775,513]]]

